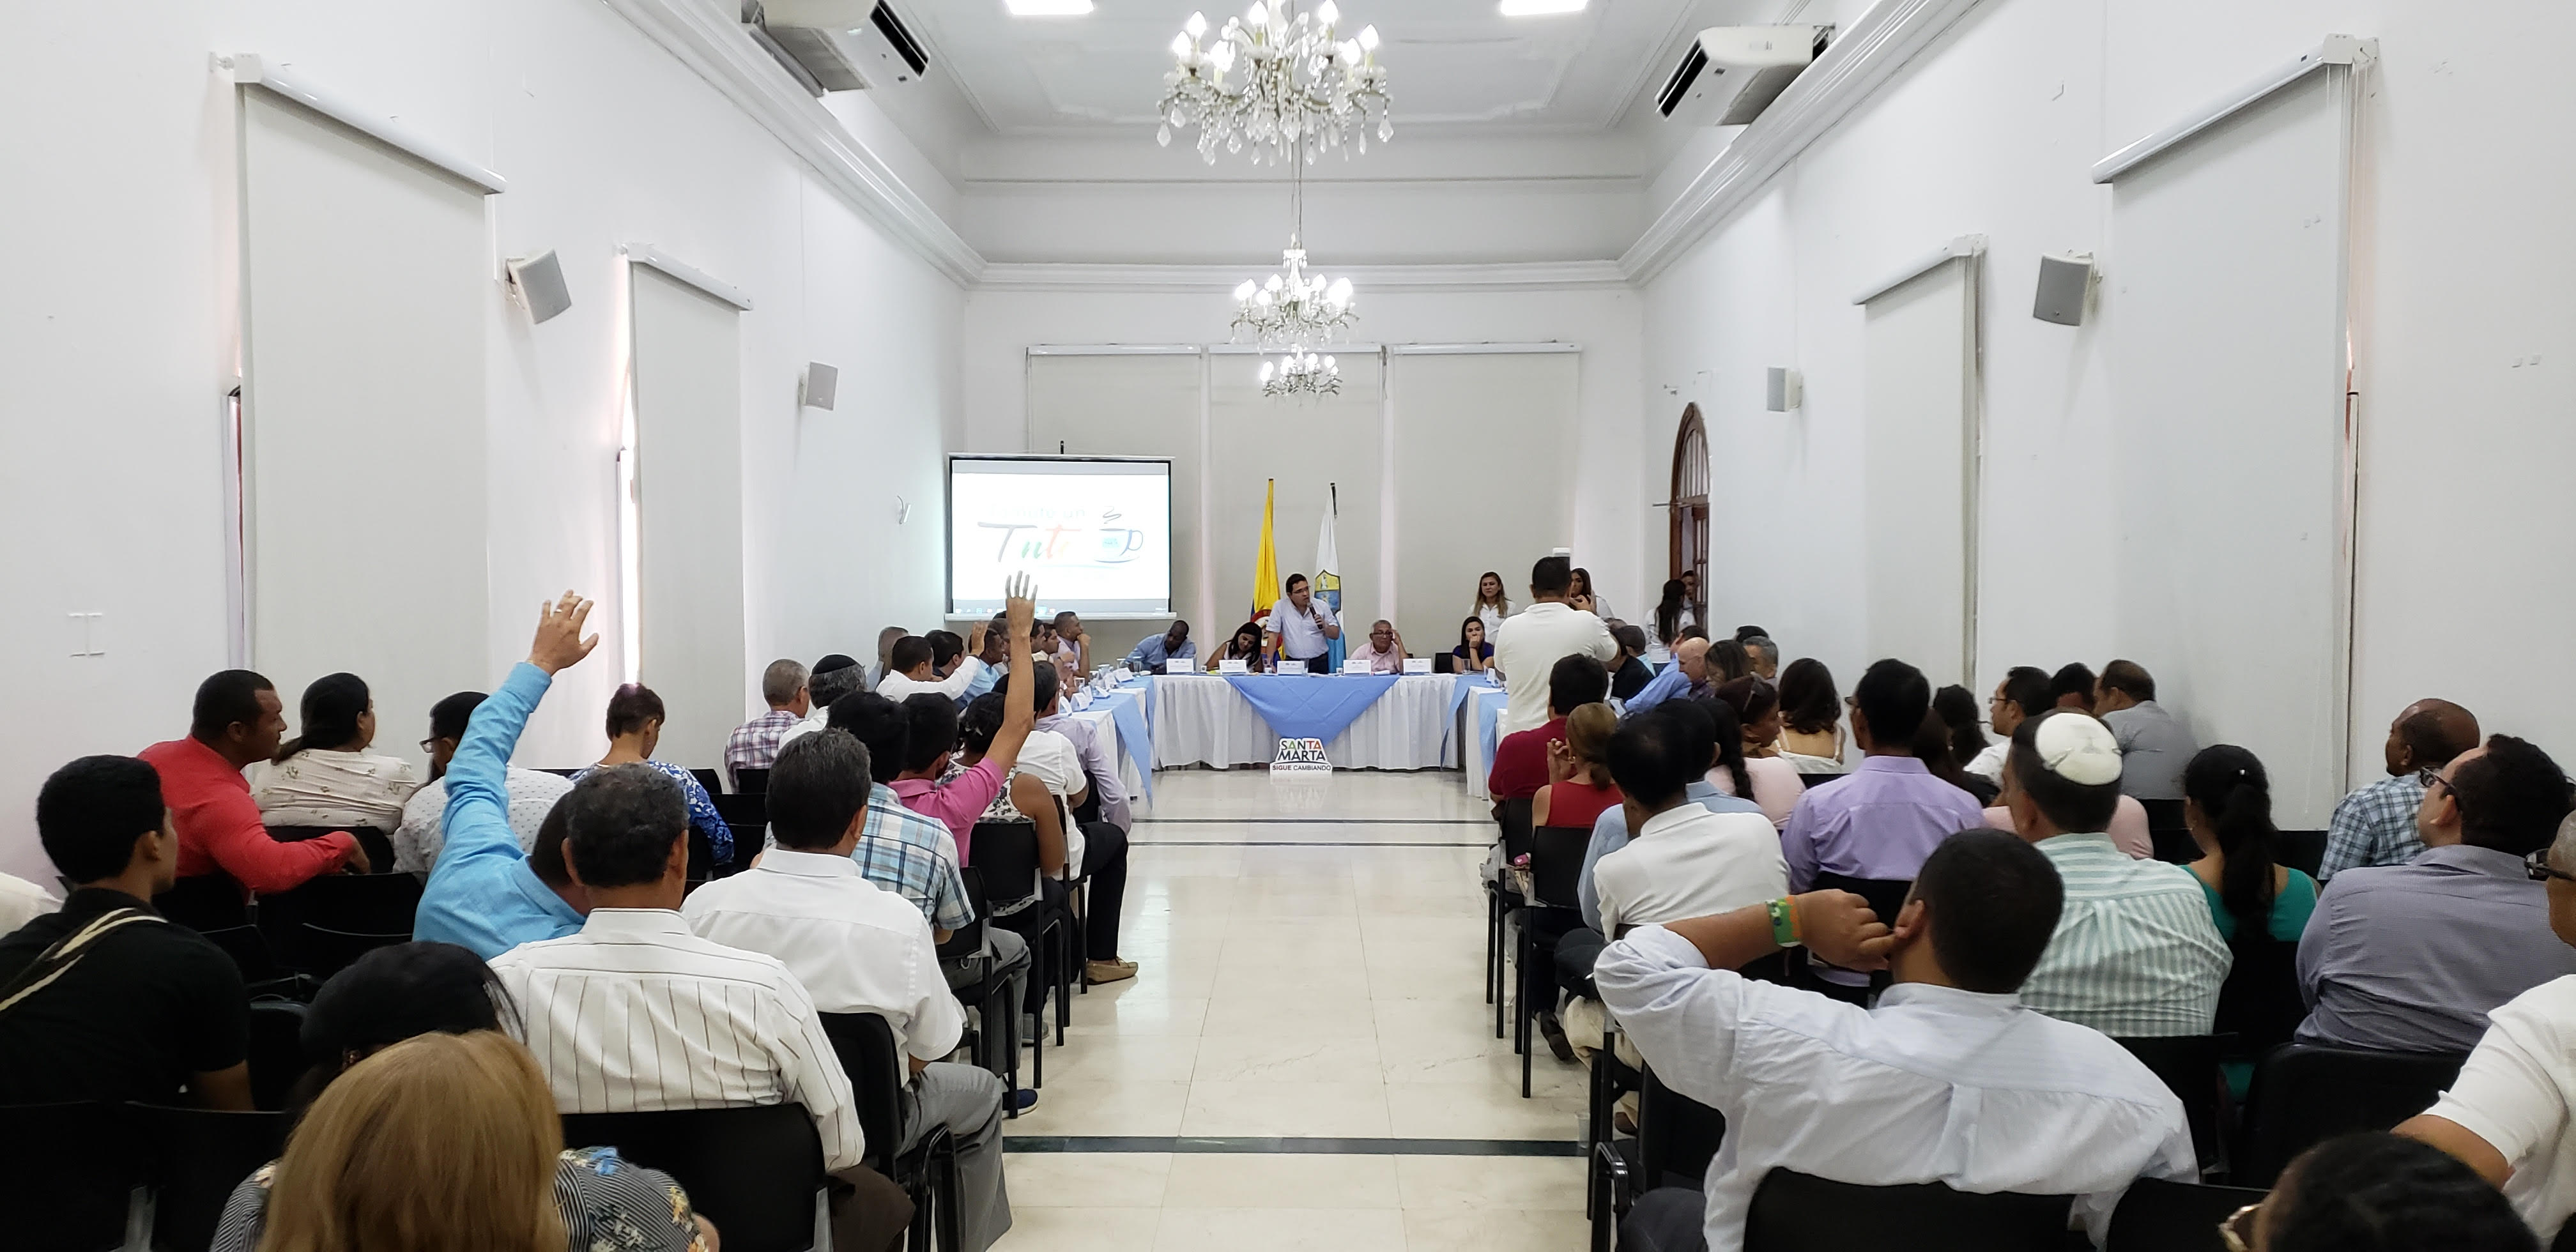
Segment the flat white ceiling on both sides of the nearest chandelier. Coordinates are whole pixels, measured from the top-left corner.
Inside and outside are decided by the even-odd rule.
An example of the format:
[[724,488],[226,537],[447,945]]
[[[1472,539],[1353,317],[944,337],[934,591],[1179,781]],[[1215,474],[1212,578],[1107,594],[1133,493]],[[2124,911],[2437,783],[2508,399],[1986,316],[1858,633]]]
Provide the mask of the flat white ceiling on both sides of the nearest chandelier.
[[[1247,0],[1249,3],[1249,0]],[[1306,0],[1301,0],[1303,8]],[[1497,0],[1337,0],[1342,28],[1376,26],[1396,134],[1409,126],[1607,131],[1662,82],[1703,0],[1592,0],[1584,13],[1504,18]],[[1082,18],[1012,18],[1002,0],[894,0],[992,134],[1151,137],[1167,44],[1224,0],[1095,0]],[[1651,80],[1651,82],[1649,82]],[[1172,147],[1188,139],[1175,137]]]

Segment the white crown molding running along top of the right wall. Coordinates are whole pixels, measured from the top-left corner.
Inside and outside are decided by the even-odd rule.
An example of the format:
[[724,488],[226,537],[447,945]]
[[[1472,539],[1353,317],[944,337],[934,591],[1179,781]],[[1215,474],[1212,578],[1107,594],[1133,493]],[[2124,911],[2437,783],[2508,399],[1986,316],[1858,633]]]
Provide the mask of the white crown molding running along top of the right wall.
[[1649,283],[1744,209],[1772,175],[1798,160],[1852,108],[1888,85],[1978,0],[1880,0],[1816,57],[1726,152],[1700,170],[1654,224],[1618,258],[1620,273]]

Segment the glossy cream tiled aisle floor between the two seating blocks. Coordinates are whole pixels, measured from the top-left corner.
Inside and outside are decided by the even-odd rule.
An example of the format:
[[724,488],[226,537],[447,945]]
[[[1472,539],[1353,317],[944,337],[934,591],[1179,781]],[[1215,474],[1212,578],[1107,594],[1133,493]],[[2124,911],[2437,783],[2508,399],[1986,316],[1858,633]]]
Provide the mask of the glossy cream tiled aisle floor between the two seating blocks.
[[1494,1038],[1492,822],[1461,778],[1154,783],[1121,940],[1144,974],[1074,1000],[1038,1108],[1010,1123],[1030,1146],[1146,1152],[1012,1152],[999,1249],[1579,1249],[1582,1159],[1443,1152],[1548,1152],[1584,1108],[1582,1069],[1546,1046],[1522,1100]]

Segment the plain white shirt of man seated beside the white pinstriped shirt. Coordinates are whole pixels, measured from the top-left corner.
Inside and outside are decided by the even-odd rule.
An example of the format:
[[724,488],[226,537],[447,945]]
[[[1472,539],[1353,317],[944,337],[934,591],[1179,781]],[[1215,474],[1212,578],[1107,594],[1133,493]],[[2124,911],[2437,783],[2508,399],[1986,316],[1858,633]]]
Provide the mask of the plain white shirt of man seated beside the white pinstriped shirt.
[[690,891],[680,917],[698,938],[775,956],[822,1012],[886,1018],[896,1051],[938,1061],[966,1033],[922,909],[860,878],[845,855],[770,848]]

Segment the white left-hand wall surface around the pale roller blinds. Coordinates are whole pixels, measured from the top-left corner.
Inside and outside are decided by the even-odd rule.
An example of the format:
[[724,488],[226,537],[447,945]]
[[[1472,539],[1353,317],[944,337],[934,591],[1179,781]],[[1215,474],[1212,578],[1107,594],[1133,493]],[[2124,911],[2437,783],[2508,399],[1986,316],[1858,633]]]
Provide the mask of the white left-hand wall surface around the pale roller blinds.
[[[196,683],[227,662],[219,397],[240,314],[234,98],[214,52],[289,62],[505,173],[495,255],[564,258],[574,307],[541,327],[492,286],[489,507],[461,518],[489,536],[489,680],[526,652],[538,598],[580,587],[605,605],[592,623],[611,641],[538,711],[523,763],[592,760],[621,670],[618,242],[659,245],[757,304],[742,319],[752,672],[775,654],[866,654],[878,623],[935,616],[961,294],[613,10],[13,5],[0,39],[41,49],[0,82],[0,108],[46,119],[0,139],[13,175],[0,198],[13,276],[0,301],[0,526],[13,536],[0,665],[26,708],[0,729],[0,871],[52,881],[31,822],[44,775],[80,752],[183,734]],[[799,412],[806,361],[842,368],[837,412]],[[894,495],[922,505],[904,528]],[[70,657],[64,613],[80,611],[106,613],[106,657]],[[317,675],[270,678],[294,706]],[[379,714],[379,747],[410,752],[425,708]]]

